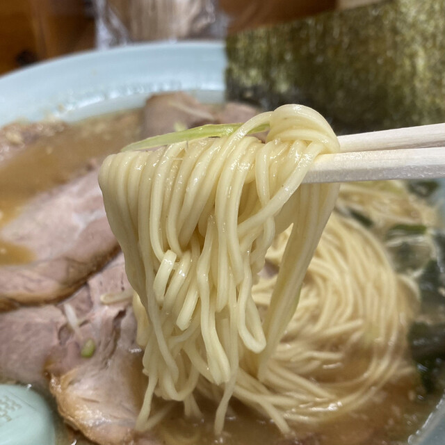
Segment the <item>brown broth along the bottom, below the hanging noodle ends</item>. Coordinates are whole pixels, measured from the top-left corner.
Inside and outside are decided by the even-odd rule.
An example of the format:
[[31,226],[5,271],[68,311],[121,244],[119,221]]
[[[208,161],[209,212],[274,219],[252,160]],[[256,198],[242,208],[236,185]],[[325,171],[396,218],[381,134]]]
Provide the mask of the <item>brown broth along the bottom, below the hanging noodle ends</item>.
[[[283,437],[271,421],[232,401],[220,438],[213,435],[216,407],[200,401],[204,420],[184,418],[178,405],[156,427],[156,435],[163,445],[402,445],[421,428],[438,401],[439,394],[424,396],[417,379],[404,378],[378,391],[369,406],[353,414],[322,426],[295,426],[294,437]],[[71,445],[74,441],[76,445],[93,445],[60,418],[56,427],[57,445]]]

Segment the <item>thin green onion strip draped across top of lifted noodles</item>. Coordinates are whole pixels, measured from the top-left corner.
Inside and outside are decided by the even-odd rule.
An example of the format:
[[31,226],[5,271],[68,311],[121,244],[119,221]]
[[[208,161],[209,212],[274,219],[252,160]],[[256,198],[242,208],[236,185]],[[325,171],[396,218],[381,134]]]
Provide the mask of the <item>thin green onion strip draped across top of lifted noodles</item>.
[[[173,133],[165,133],[160,136],[153,136],[140,140],[139,142],[127,145],[122,152],[135,152],[138,150],[147,150],[154,147],[161,147],[162,145],[170,145],[177,142],[184,142],[187,140],[201,139],[201,138],[220,138],[223,136],[230,136],[243,124],[207,124],[201,127],[195,127],[183,131],[175,131]],[[260,125],[254,128],[249,133],[259,133],[266,131],[268,125]]]

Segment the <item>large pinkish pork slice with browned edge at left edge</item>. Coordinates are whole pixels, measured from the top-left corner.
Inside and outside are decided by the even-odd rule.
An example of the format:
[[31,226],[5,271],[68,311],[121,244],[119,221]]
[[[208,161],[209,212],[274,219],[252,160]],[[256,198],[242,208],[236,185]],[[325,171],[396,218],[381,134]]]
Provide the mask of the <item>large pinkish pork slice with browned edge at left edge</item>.
[[0,309],[60,300],[118,251],[97,169],[35,196],[0,238],[31,250],[28,264],[0,266]]

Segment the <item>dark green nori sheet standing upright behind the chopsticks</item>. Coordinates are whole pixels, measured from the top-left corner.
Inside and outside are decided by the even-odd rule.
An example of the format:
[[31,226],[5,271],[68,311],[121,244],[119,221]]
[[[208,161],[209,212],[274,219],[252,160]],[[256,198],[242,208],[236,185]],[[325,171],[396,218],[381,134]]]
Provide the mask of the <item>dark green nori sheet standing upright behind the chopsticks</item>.
[[393,0],[227,38],[228,99],[316,108],[340,132],[445,121],[445,0]]

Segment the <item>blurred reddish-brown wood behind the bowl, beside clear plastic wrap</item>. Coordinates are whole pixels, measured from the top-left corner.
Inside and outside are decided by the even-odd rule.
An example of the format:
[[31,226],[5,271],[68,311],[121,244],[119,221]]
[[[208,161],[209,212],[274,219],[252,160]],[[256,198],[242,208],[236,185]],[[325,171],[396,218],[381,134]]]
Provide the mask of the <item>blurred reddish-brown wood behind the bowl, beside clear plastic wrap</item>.
[[[128,19],[125,6],[131,0],[109,1]],[[229,33],[235,33],[372,1],[378,0],[220,0],[220,8],[232,17]],[[86,17],[83,0],[0,0],[0,74],[94,45],[95,24]]]

